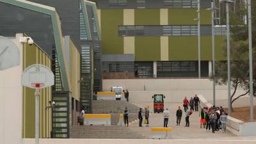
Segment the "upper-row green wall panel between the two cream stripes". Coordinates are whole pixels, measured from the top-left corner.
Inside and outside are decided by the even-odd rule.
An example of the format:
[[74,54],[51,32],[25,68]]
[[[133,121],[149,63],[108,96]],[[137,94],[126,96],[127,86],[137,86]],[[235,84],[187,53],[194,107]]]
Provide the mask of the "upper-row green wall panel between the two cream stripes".
[[135,9],[135,25],[160,25],[160,9]]

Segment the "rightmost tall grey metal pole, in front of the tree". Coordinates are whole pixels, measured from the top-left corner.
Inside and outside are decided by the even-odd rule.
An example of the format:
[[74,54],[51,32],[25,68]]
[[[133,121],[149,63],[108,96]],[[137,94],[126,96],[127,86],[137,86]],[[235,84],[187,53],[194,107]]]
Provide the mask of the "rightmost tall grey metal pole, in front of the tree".
[[251,0],[248,0],[248,34],[249,34],[249,67],[250,67],[250,120],[254,122],[253,118],[253,76],[252,76],[252,7]]

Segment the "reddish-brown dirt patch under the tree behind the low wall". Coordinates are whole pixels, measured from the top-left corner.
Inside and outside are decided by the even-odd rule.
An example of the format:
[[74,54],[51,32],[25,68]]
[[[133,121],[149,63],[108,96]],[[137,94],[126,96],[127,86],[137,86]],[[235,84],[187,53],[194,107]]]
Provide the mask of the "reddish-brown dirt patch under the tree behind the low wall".
[[[244,122],[250,122],[250,107],[234,108],[231,116]],[[256,106],[254,106],[254,122],[256,122]]]

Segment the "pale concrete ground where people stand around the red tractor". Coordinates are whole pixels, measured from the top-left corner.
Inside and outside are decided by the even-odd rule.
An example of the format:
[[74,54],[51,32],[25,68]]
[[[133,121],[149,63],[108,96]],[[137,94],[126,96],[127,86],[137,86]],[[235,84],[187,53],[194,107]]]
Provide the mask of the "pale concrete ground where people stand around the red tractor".
[[[132,131],[140,132],[144,134],[146,138],[150,136],[150,127],[163,127],[163,115],[160,113],[154,113],[153,111],[153,103],[140,103],[137,104],[141,108],[145,108],[146,106],[150,106],[151,115],[149,116],[149,127],[138,127],[138,120],[129,125]],[[176,110],[180,106],[182,108],[182,119],[180,125],[176,125]],[[173,128],[172,137],[174,139],[202,139],[202,138],[223,138],[223,137],[235,137],[230,132],[222,133],[221,131],[217,131],[214,134],[211,131],[206,131],[204,128],[200,129],[200,118],[199,112],[194,111],[194,113],[190,116],[190,127],[184,127],[186,125],[185,122],[185,113],[181,103],[164,103],[164,108],[168,108],[171,116],[169,118],[168,127]]]

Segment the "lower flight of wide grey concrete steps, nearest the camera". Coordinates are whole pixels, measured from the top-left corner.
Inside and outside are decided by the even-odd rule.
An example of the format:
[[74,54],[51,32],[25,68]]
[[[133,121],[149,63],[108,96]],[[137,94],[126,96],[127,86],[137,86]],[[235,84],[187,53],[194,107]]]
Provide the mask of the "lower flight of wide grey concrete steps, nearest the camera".
[[97,138],[97,139],[143,139],[145,136],[131,131],[127,127],[111,126],[74,126],[71,138]]

